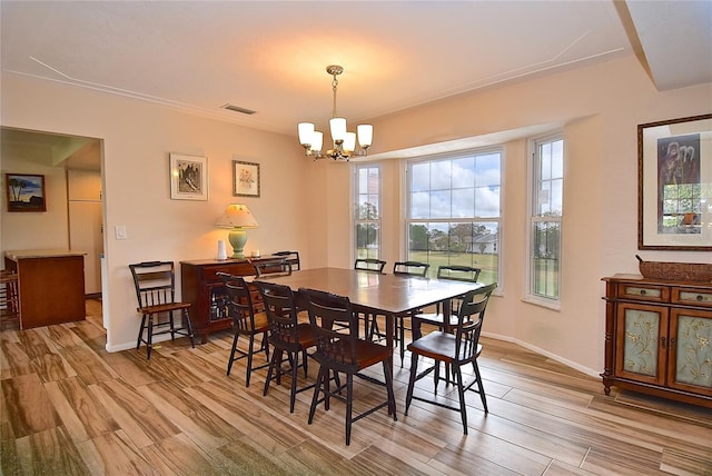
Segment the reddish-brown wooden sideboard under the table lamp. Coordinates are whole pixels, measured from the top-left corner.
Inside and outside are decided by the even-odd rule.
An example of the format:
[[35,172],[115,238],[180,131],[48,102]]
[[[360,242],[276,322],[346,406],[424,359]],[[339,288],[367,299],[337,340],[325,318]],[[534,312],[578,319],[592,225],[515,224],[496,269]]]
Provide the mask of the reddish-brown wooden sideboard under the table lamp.
[[253,264],[279,262],[281,259],[280,257],[266,256],[249,260],[180,261],[181,300],[192,305],[189,310],[190,321],[195,334],[201,336],[202,344],[208,341],[210,333],[233,327],[233,318],[225,304],[225,286],[217,274],[254,276],[255,267]]

